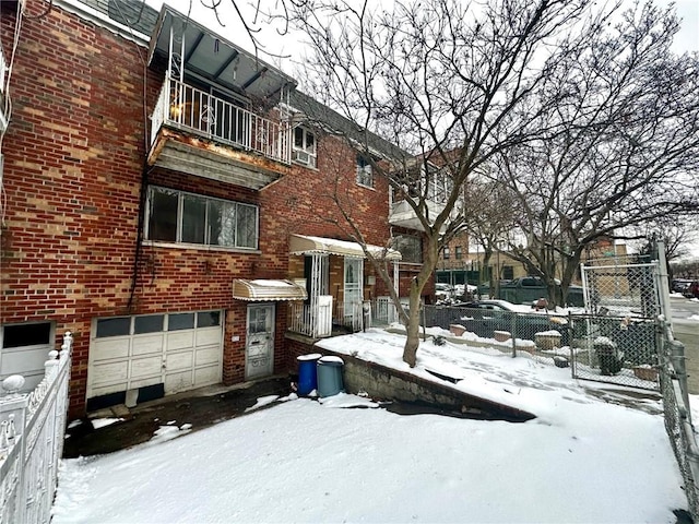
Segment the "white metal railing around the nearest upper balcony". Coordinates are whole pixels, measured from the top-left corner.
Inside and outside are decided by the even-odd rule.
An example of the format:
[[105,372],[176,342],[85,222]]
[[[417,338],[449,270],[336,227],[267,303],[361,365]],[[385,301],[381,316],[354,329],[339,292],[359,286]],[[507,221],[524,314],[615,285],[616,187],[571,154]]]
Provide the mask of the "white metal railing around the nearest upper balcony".
[[261,117],[175,79],[165,79],[151,122],[151,143],[163,124],[170,124],[291,163],[288,122]]

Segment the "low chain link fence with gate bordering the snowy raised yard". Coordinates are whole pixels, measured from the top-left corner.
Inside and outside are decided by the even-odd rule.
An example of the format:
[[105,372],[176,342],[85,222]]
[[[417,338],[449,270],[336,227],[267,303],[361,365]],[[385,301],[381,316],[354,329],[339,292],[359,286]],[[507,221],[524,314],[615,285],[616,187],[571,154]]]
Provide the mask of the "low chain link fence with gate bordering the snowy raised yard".
[[497,300],[476,303],[471,308],[425,306],[424,325],[476,342],[487,340],[490,347],[513,356],[570,367],[574,378],[659,390],[652,319],[609,311],[556,314]]

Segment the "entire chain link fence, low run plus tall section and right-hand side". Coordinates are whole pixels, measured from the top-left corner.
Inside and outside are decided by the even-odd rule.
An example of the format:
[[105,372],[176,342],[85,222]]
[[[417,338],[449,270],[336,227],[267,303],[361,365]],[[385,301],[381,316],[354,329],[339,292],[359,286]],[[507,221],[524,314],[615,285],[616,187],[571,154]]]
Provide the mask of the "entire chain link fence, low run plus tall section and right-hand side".
[[[663,252],[662,246],[659,252]],[[672,314],[665,267],[662,259],[587,262],[581,267],[584,311],[564,315],[484,300],[470,308],[425,306],[423,324],[470,338],[474,347],[485,344],[512,356],[570,367],[578,379],[657,391],[689,513],[699,522],[699,448],[691,421],[685,349],[674,340],[672,323],[666,320]]]

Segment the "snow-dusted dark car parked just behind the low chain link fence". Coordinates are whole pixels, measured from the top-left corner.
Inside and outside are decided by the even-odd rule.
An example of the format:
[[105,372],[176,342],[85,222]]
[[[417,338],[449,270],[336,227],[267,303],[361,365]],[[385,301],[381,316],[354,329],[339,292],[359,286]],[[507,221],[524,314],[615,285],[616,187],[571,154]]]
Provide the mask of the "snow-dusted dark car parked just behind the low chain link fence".
[[568,344],[568,319],[547,311],[535,311],[531,307],[518,306],[507,300],[474,300],[455,303],[448,314],[437,311],[433,325],[448,330],[450,324],[461,324],[466,331],[491,338],[495,331],[506,331],[514,336],[533,341],[536,333],[557,331],[561,343]]

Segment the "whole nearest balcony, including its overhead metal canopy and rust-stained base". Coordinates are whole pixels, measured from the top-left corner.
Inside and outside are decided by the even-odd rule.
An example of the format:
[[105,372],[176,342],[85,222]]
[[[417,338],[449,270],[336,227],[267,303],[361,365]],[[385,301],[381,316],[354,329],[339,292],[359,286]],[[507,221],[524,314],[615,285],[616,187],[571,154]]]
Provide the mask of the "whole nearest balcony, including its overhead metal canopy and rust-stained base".
[[277,106],[294,79],[168,5],[147,61],[165,71],[151,116],[150,166],[254,190],[288,171],[291,128]]

